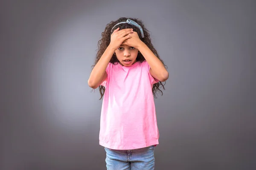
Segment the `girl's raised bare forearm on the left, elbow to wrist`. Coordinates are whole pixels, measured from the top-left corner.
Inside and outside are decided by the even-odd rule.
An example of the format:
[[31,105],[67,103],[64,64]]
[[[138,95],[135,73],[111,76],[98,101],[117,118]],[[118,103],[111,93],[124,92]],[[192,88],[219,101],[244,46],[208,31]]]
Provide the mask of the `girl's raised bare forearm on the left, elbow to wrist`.
[[99,87],[100,83],[102,82],[102,78],[104,77],[106,73],[106,68],[108,66],[108,63],[113,56],[115,49],[111,46],[108,46],[105,52],[102,54],[102,57],[99,59],[97,64],[94,66],[90,77],[88,79],[88,85],[91,88],[97,88]]

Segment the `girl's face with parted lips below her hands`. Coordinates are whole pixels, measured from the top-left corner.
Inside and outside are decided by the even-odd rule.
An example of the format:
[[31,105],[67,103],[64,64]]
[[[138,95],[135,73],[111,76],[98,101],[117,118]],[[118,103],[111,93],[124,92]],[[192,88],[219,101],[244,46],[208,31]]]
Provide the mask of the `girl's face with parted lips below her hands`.
[[136,58],[138,55],[138,49],[128,46],[120,45],[119,48],[115,51],[116,57],[119,60],[119,63],[123,66],[131,66],[137,62]]

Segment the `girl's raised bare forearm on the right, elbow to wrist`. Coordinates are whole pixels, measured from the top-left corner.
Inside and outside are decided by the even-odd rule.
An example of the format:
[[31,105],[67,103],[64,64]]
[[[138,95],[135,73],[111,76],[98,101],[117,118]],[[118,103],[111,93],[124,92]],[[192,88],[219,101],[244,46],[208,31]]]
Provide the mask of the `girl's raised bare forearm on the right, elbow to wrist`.
[[144,42],[141,42],[140,45],[138,45],[138,50],[148,62],[148,65],[153,72],[152,76],[161,82],[166,81],[169,77],[169,73],[160,59],[154,55],[154,53],[148,48],[147,45],[145,45]]

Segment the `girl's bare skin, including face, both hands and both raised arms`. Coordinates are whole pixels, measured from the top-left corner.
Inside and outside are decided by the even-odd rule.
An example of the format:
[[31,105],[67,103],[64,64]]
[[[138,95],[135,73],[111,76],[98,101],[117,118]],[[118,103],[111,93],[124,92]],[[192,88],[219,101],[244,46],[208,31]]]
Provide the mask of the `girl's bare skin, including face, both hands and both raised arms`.
[[[117,28],[111,34],[111,42],[108,45],[102,57],[99,59],[95,67],[93,68],[90,77],[88,79],[88,85],[91,88],[98,88],[99,85],[107,78],[106,68],[113,53],[116,53],[116,57],[119,63],[123,66],[129,67],[134,64],[138,51],[144,56],[148,65],[150,65],[150,74],[160,80],[166,81],[169,78],[169,73],[164,67],[163,63],[154,55],[154,53],[142,42],[137,34],[131,28],[122,29],[119,31]],[[130,64],[125,64],[124,59],[131,59]]]

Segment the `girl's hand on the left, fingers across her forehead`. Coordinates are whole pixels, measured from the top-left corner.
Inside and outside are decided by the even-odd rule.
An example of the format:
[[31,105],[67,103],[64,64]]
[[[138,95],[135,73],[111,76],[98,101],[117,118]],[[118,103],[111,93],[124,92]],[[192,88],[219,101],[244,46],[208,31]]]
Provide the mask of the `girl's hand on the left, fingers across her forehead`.
[[113,33],[111,34],[110,46],[113,47],[115,50],[119,48],[123,41],[131,38],[130,33],[133,32],[132,28],[122,29],[118,31],[120,28],[116,28]]

